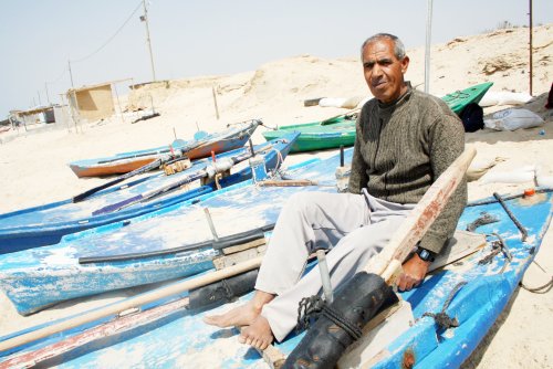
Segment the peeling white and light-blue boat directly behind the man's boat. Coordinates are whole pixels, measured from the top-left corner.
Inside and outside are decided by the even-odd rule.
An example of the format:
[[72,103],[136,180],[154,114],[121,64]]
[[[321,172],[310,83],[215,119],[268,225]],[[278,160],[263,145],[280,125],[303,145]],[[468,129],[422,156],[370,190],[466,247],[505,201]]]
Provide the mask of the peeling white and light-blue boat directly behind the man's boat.
[[[260,151],[251,162],[261,160],[267,164],[261,167],[279,168],[296,136],[292,133],[288,139],[273,141],[274,149]],[[252,170],[254,178],[261,177],[255,175],[258,167],[247,168],[250,177]],[[237,191],[241,187],[246,189]],[[205,244],[213,234],[204,209],[210,209],[219,238],[249,230],[242,221],[244,213],[270,214],[258,219],[255,226],[267,224],[268,219],[274,222],[284,198],[261,202],[257,191],[246,180],[137,218],[69,234],[54,245],[1,254],[0,289],[20,314],[28,315],[74,297],[204,272],[220,254]]]

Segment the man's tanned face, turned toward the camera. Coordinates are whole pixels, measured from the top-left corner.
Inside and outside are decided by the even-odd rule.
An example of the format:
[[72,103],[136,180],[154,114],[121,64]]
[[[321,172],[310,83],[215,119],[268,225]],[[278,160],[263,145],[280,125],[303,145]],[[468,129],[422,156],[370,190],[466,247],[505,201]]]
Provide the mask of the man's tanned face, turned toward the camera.
[[404,74],[409,57],[398,60],[394,54],[394,41],[380,39],[365,45],[363,71],[373,95],[382,103],[392,103],[407,91]]

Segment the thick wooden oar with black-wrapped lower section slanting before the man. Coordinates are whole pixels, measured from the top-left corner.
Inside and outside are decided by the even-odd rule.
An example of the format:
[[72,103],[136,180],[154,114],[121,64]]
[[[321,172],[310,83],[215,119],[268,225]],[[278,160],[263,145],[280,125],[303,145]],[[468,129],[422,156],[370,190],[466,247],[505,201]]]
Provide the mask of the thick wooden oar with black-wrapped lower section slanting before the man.
[[[387,286],[396,283],[401,273],[401,264],[444,210],[447,201],[462,181],[474,155],[476,150],[469,148],[457,158],[430,186],[393,234],[386,247],[373,256],[363,271],[346,282],[336,293],[334,303],[337,304],[331,304],[330,308],[338,312],[338,315],[344,314],[345,319],[347,319],[346,316],[355,316],[356,319],[361,319],[349,321],[348,327],[352,325],[357,327],[357,325],[371,321],[378,314],[379,307],[389,303],[390,292]],[[358,293],[358,288],[365,289],[363,294]],[[363,314],[344,310],[354,301],[357,309]],[[311,367],[311,365],[314,368],[334,367],[347,345],[353,342],[353,338],[352,333],[333,328],[337,328],[333,320],[324,316],[321,317],[290,354],[284,367]]]

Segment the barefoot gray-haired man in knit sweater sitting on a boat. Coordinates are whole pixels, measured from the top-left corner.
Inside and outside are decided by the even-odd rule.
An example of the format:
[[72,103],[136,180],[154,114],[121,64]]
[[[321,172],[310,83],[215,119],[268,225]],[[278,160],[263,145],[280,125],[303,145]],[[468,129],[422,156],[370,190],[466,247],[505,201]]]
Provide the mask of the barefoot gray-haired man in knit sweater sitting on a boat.
[[[326,261],[336,288],[386,246],[465,148],[460,119],[441,99],[411,89],[404,81],[409,57],[400,40],[386,33],[367,39],[362,61],[375,98],[357,120],[349,193],[293,196],[279,215],[252,301],[205,318],[219,327],[246,326],[241,342],[264,349],[273,338],[282,340],[296,324],[300,301],[321,293],[317,268],[302,276],[313,250],[332,249]],[[432,256],[453,234],[466,201],[463,182],[404,263],[399,289],[408,291],[424,280]]]

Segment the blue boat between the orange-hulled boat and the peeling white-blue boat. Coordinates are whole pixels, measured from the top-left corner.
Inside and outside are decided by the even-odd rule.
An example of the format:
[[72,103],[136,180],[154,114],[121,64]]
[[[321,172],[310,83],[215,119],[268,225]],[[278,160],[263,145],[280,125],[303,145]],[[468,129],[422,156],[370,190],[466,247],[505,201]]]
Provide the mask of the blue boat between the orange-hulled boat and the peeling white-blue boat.
[[[292,134],[281,140],[257,145],[253,150],[264,159],[267,169],[273,170],[282,164],[282,158],[286,157],[290,145],[296,137],[298,134]],[[232,168],[232,175],[219,181],[220,187],[228,187],[251,178],[251,169],[247,166],[250,155],[250,148],[243,147],[216,157],[218,164],[226,162],[225,160],[243,161],[242,165],[237,162]],[[171,176],[158,171],[138,180],[117,183],[116,187],[98,191],[84,201],[74,202],[73,199],[67,199],[0,214],[0,254],[55,244],[65,234],[135,218],[210,193],[217,189],[215,182],[199,186],[199,181],[192,179],[207,175],[206,168],[211,167],[211,159],[196,160],[187,170]],[[174,187],[173,190],[156,193],[158,189],[174,183],[179,186]],[[144,193],[157,196],[133,203],[128,202],[128,199]],[[121,207],[114,205],[122,201],[127,202]]]

